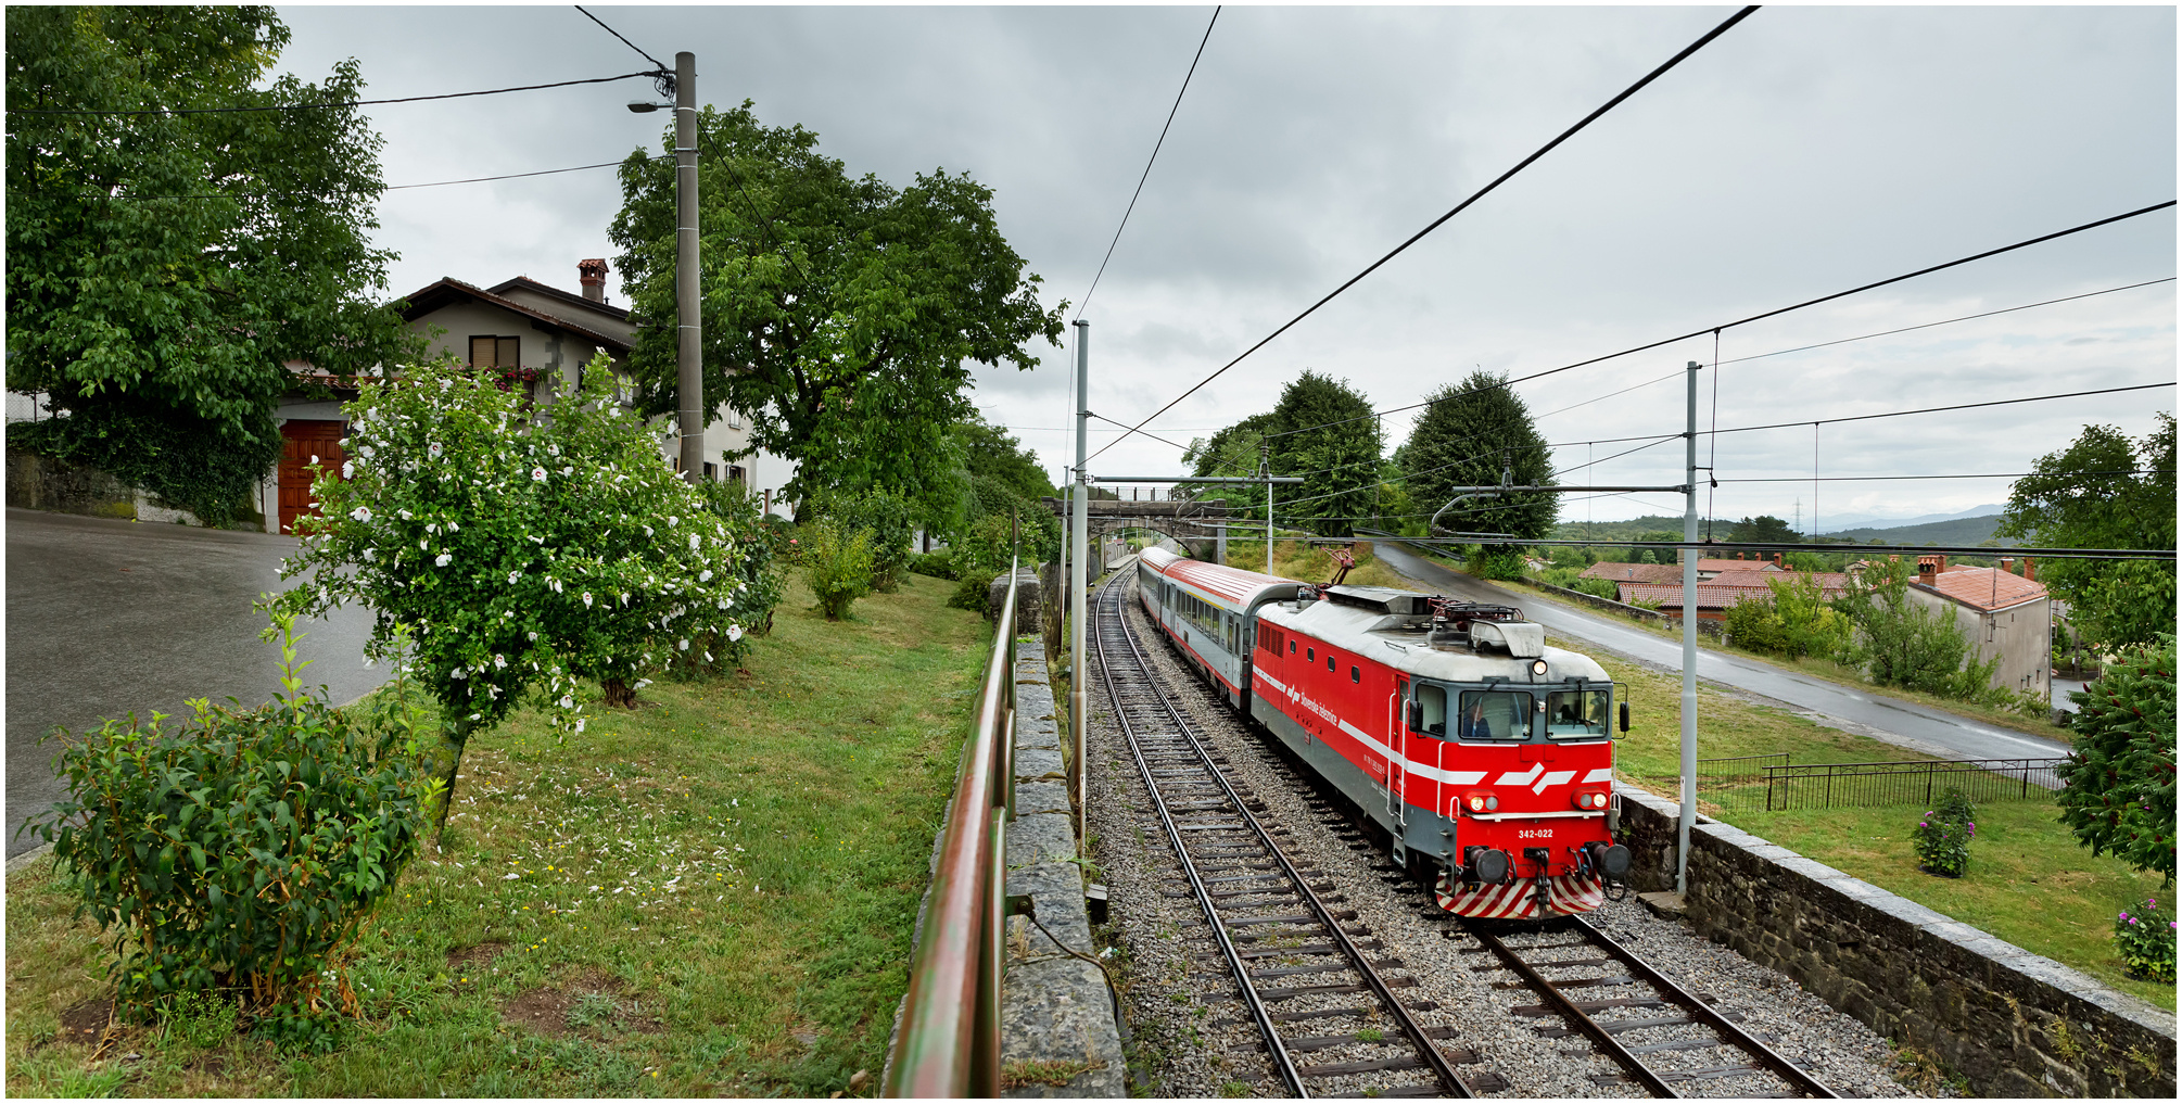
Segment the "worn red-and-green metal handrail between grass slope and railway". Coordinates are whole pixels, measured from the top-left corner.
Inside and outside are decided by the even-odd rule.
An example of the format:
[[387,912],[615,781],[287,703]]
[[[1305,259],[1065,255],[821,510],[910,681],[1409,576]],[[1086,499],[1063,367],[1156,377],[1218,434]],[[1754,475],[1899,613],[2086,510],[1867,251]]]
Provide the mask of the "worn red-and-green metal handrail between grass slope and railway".
[[938,868],[910,958],[910,993],[884,1095],[999,1095],[999,980],[1008,962],[1008,820],[1015,820],[1015,602],[1008,563],[993,655],[962,744]]

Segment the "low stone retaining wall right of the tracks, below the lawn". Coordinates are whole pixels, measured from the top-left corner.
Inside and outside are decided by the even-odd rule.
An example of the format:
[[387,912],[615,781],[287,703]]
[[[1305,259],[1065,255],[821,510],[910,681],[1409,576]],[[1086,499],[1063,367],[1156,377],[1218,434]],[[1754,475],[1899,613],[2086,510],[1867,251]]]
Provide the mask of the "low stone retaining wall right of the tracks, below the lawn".
[[[1671,890],[1676,803],[1617,790],[1630,881]],[[1691,829],[1685,910],[1973,1095],[2175,1095],[2171,1012],[1733,825]]]

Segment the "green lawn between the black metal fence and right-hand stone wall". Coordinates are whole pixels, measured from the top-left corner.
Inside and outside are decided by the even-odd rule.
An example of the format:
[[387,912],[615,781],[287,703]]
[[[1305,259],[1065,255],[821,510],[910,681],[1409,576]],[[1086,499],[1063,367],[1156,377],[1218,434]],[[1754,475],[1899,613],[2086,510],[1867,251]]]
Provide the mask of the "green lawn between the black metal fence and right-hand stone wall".
[[2167,897],[2158,875],[2112,855],[2093,857],[2062,827],[2049,801],[2005,801],[1977,809],[1970,873],[1933,877],[1916,868],[1909,831],[1920,807],[1798,809],[1739,814],[1735,825],[1872,886],[1990,932],[2031,953],[2066,962],[2123,993],[2175,1008],[2175,986],[2134,982],[2114,953],[2114,912]]

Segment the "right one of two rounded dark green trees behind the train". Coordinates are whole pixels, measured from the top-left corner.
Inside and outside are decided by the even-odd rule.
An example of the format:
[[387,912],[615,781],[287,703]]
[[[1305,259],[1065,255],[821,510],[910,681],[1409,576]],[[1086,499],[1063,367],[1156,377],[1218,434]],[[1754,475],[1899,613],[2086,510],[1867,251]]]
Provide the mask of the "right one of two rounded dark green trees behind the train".
[[[1429,395],[1401,449],[1403,484],[1425,515],[1438,513],[1458,491],[1490,487],[1512,469],[1516,487],[1554,487],[1554,454],[1538,436],[1523,397],[1506,375],[1475,371]],[[1560,495],[1516,493],[1473,497],[1440,517],[1442,530],[1547,537],[1560,517]]]

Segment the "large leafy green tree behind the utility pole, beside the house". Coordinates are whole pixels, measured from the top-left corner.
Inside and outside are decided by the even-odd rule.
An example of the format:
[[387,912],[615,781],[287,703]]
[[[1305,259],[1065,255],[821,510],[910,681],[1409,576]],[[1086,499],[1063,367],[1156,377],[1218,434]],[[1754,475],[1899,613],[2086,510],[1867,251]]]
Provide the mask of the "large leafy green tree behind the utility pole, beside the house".
[[[969,364],[1032,369],[1060,310],[1008,247],[993,192],[967,175],[908,188],[818,153],[803,127],[751,103],[698,113],[705,417],[724,399],[751,449],[796,460],[788,495],[890,487],[927,526],[960,515],[954,425],[973,412]],[[672,148],[672,129],[663,148]],[[646,415],[676,401],[674,164],[622,161],[609,236],[637,319],[628,371]]]

